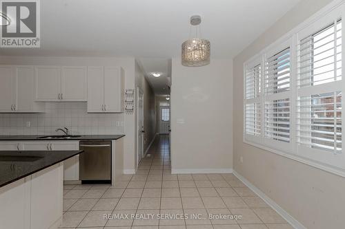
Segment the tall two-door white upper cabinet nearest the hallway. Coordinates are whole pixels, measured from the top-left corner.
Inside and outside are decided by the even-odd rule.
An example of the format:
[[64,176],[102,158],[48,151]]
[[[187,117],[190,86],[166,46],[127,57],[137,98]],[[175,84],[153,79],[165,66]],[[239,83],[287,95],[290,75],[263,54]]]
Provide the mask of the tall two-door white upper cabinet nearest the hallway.
[[124,69],[88,67],[88,112],[124,112]]

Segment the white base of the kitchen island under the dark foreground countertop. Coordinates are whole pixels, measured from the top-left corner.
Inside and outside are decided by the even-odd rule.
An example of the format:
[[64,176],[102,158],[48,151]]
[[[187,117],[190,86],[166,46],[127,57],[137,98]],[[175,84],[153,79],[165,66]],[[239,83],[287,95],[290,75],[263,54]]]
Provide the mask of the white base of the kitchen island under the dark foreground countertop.
[[62,163],[0,188],[0,228],[57,228],[63,212]]

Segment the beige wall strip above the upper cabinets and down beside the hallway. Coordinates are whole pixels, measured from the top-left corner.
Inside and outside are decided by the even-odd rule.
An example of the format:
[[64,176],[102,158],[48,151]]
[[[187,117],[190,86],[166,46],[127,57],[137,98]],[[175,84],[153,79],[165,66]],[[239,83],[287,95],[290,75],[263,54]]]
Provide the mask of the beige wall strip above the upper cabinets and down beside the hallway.
[[[0,65],[83,65],[83,66],[121,66],[125,71],[125,88],[135,88],[135,58],[115,57],[49,57],[49,56],[0,56]],[[123,114],[124,133],[124,170],[135,171],[135,116]]]

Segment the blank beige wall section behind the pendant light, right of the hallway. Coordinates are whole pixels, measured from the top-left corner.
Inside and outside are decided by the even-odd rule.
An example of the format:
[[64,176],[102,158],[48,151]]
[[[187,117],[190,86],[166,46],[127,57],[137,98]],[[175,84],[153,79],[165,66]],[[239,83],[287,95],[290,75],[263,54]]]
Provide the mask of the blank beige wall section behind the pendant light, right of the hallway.
[[[171,158],[173,173],[221,173],[233,167],[233,60],[204,67],[172,59]],[[178,124],[179,119],[184,124]]]

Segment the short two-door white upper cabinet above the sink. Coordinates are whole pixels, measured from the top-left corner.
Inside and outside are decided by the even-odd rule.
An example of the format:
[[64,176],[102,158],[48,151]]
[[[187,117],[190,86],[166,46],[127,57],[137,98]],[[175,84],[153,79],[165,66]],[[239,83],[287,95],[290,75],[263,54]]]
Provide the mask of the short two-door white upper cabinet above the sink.
[[37,66],[34,80],[36,101],[87,100],[86,67]]

